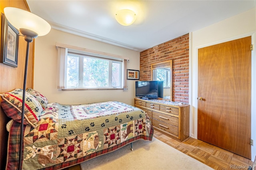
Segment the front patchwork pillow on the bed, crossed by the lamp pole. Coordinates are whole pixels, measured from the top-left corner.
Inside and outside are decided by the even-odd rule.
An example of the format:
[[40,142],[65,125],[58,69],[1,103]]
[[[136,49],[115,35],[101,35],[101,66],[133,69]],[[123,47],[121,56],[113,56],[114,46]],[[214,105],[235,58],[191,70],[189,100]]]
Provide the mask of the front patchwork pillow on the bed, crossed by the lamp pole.
[[[11,92],[0,94],[2,97],[1,106],[4,113],[19,123],[21,123],[22,95],[22,89],[15,89]],[[27,92],[25,93],[24,111],[24,125],[30,125],[35,128],[43,108],[40,103]]]

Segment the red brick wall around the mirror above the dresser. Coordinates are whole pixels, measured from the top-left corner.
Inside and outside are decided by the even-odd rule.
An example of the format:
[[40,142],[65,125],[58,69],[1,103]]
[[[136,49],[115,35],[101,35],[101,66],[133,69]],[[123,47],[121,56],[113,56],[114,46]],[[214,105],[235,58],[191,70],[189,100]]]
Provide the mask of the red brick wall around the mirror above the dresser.
[[140,81],[151,80],[151,64],[172,59],[172,101],[188,103],[188,34],[140,52]]

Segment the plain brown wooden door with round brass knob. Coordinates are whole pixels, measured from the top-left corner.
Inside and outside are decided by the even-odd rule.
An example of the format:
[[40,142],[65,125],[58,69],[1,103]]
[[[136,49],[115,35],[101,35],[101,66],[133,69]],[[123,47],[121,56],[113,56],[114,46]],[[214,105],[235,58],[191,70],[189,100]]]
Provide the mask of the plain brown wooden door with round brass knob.
[[198,139],[249,159],[250,44],[246,37],[198,49]]

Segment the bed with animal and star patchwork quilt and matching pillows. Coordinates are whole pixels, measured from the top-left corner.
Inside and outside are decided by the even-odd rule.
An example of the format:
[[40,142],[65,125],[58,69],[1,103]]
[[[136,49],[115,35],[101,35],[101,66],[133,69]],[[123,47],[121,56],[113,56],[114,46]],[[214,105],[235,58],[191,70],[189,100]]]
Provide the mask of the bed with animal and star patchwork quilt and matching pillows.
[[[19,159],[22,89],[0,94],[8,123],[6,169]],[[152,140],[146,112],[108,101],[86,105],[48,103],[34,89],[25,94],[22,169],[61,169],[116,150],[135,140]]]

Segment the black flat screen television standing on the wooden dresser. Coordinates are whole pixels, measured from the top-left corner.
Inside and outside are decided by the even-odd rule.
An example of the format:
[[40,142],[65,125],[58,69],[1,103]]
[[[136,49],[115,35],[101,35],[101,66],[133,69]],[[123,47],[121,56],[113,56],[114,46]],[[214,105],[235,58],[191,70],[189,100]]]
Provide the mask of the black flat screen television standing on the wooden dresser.
[[136,81],[135,96],[157,99],[158,98],[158,81]]

